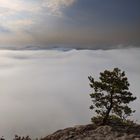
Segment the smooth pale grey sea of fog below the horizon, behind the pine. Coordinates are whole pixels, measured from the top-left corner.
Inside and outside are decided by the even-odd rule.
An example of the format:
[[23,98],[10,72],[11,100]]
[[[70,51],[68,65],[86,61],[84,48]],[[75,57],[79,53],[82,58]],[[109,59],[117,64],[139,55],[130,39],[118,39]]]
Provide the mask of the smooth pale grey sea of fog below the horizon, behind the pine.
[[0,50],[0,136],[46,136],[90,123],[88,76],[119,67],[126,72],[140,122],[140,49]]

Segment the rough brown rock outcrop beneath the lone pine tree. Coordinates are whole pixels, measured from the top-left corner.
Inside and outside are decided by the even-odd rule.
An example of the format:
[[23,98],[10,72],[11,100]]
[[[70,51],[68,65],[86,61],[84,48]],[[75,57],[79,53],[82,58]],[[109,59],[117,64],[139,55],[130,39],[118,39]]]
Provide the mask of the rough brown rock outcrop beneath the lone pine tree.
[[81,125],[58,130],[41,140],[140,140],[140,125]]

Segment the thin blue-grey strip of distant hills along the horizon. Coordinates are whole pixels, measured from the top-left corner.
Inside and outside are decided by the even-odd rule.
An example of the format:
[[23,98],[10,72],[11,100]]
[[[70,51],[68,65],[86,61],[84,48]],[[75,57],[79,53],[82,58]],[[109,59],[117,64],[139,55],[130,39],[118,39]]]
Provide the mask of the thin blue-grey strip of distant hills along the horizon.
[[127,48],[140,48],[140,46],[133,45],[93,45],[93,46],[79,46],[79,45],[27,45],[27,46],[0,46],[0,50],[58,50],[58,51],[70,51],[70,50],[112,50],[112,49],[127,49]]

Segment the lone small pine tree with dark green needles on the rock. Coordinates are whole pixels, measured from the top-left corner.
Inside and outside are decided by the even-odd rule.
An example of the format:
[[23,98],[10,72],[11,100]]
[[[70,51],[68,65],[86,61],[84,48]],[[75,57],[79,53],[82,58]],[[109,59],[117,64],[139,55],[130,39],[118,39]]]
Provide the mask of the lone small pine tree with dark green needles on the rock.
[[99,81],[95,81],[92,76],[88,78],[93,89],[93,93],[90,94],[93,102],[90,109],[94,109],[98,114],[97,117],[92,118],[92,121],[103,125],[112,119],[127,122],[126,118],[135,112],[128,104],[136,97],[133,97],[129,91],[125,72],[114,68],[113,71],[101,72]]

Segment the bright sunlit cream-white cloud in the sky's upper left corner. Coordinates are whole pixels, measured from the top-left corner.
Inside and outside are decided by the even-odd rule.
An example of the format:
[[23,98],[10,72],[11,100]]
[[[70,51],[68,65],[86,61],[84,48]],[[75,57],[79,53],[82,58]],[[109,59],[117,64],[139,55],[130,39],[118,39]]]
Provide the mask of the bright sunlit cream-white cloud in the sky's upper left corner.
[[[14,30],[17,26],[25,27],[38,20],[37,16],[43,14],[61,15],[62,8],[68,7],[74,3],[74,0],[0,0],[0,24]],[[35,18],[35,19],[34,19]],[[12,26],[12,27],[11,27]]]

